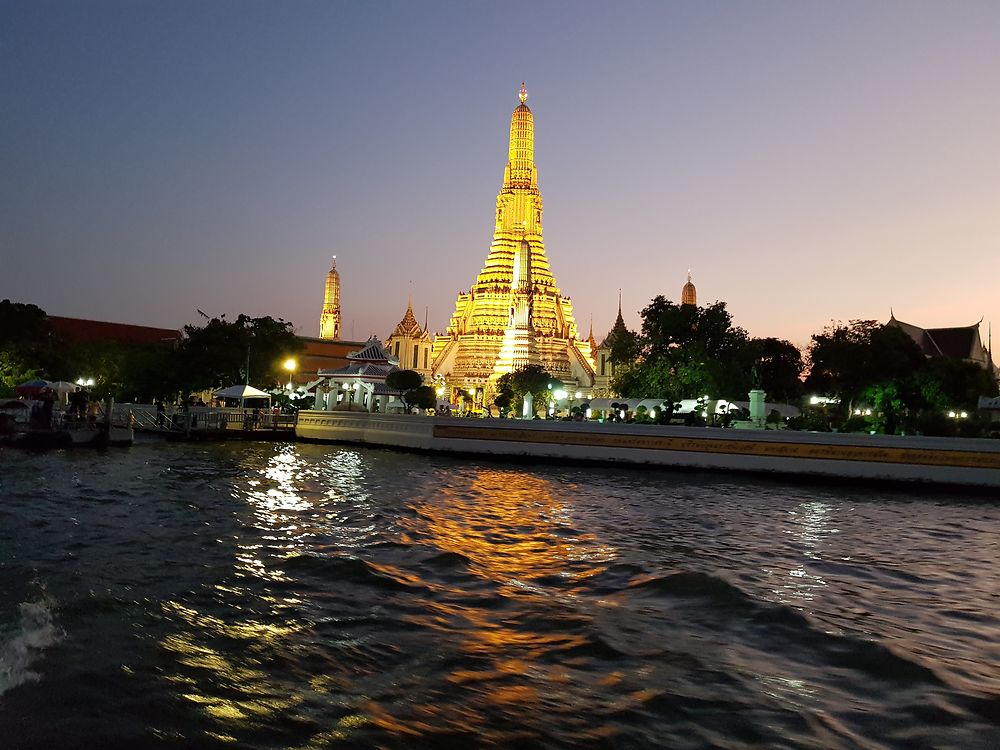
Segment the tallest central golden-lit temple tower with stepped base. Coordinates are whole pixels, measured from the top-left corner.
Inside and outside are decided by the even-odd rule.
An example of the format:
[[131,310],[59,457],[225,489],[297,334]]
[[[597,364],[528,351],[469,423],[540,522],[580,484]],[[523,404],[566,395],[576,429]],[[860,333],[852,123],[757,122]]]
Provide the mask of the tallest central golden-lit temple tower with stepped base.
[[486,264],[472,288],[458,295],[446,333],[434,340],[434,375],[453,387],[483,388],[529,364],[570,385],[593,383],[590,344],[579,338],[573,305],[559,293],[545,257],[527,98],[522,83]]

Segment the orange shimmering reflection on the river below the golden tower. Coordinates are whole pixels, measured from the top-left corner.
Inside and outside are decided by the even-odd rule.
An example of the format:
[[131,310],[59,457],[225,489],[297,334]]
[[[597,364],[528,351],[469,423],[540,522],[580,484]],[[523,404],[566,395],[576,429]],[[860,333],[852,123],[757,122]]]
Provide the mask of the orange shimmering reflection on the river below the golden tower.
[[[484,597],[494,603],[500,595],[544,599],[550,614],[552,604],[561,603],[567,619],[547,617],[536,625],[530,618],[511,618],[502,608],[476,606],[474,598],[429,599],[425,611],[408,621],[439,632],[474,657],[475,667],[457,667],[446,676],[462,686],[461,715],[451,703],[427,701],[411,703],[403,719],[392,707],[372,704],[376,726],[408,734],[444,723],[480,734],[486,716],[499,712],[513,718],[536,710],[543,699],[558,702],[579,689],[570,685],[568,652],[586,646],[588,638],[578,631],[573,584],[605,570],[616,550],[574,527],[572,495],[572,485],[556,487],[535,474],[481,468],[467,485],[445,483],[433,496],[410,504],[415,515],[401,520],[407,540],[461,555],[468,572],[498,586]],[[556,653],[567,658],[553,663]]]

